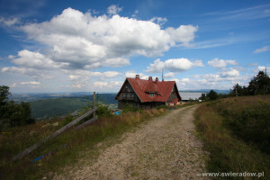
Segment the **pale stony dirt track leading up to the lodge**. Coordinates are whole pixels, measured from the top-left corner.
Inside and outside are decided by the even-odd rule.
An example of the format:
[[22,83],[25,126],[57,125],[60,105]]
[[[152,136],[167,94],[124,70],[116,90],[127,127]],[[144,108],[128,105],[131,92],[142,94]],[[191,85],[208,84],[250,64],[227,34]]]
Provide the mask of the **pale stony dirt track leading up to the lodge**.
[[55,179],[202,179],[197,174],[206,172],[206,155],[193,135],[196,108],[174,110],[125,133],[92,166],[73,168]]

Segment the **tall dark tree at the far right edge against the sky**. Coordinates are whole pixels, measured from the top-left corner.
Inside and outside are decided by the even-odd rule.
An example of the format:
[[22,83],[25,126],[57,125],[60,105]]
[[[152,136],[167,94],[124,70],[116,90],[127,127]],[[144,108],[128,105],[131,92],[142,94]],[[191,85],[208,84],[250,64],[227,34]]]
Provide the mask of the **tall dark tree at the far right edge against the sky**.
[[264,71],[259,71],[249,82],[247,89],[249,94],[268,94],[270,78]]

